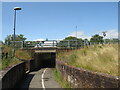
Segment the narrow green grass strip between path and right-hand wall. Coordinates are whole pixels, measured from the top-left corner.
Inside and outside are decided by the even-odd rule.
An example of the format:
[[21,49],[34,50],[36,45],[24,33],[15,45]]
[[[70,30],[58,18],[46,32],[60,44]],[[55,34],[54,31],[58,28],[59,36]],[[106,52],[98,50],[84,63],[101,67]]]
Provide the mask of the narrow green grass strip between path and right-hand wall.
[[54,69],[54,77],[55,80],[57,80],[57,82],[62,86],[62,88],[71,88],[70,85],[62,79],[56,68]]

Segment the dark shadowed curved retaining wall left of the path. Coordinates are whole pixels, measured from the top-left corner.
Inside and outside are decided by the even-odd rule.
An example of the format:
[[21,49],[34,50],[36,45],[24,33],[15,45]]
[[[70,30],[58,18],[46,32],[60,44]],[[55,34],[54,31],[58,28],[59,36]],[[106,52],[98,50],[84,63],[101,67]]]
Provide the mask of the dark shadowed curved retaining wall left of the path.
[[2,88],[14,88],[25,76],[25,62],[2,70]]

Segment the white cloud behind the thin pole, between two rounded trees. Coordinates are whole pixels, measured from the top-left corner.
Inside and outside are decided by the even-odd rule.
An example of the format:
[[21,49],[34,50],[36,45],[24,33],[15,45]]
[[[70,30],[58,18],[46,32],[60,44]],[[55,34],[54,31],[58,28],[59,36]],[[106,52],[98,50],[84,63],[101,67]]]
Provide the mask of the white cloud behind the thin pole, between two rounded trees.
[[72,32],[68,36],[73,36],[73,37],[77,36],[78,38],[82,38],[82,39],[87,38],[88,40],[90,40],[90,38],[91,38],[91,36],[86,36],[83,31],[77,31],[77,34],[76,34],[76,32]]

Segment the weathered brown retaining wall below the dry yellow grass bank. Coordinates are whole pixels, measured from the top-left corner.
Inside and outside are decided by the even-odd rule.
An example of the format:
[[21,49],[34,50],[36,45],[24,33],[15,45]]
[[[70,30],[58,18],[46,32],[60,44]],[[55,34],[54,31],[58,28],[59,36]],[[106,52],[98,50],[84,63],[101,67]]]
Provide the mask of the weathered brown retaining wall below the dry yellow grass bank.
[[56,67],[62,78],[73,88],[118,88],[118,77],[71,67],[56,61]]

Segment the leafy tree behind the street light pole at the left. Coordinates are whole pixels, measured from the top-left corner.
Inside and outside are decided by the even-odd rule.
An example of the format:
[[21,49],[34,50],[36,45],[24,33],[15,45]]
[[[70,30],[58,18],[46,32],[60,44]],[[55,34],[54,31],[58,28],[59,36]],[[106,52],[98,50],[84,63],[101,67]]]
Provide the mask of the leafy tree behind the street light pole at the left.
[[[7,35],[5,38],[5,44],[10,45],[10,42],[14,40],[14,35]],[[24,37],[24,35],[15,35],[15,41],[25,41],[27,38]]]

